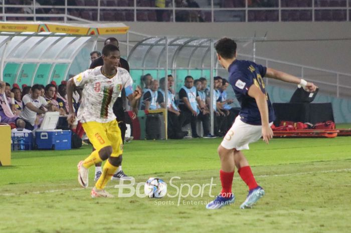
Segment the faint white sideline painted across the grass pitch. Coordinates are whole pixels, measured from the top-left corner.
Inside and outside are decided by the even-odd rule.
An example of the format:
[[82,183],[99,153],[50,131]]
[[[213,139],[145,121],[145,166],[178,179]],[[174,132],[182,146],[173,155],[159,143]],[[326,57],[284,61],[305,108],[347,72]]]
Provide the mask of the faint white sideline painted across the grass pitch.
[[[299,173],[288,173],[288,174],[276,174],[276,175],[256,175],[255,177],[277,177],[277,176],[294,176],[294,175],[307,175],[313,173],[332,173],[332,172],[342,172],[342,171],[351,171],[351,168],[338,169],[338,170],[327,170],[327,171],[309,171],[309,172],[299,172]],[[107,188],[112,188],[115,185],[106,186]],[[52,189],[36,192],[27,192],[27,193],[0,193],[0,196],[15,196],[20,194],[40,194],[40,193],[51,193],[51,192],[63,192],[63,191],[79,191],[86,190],[85,188],[66,188],[66,189]]]

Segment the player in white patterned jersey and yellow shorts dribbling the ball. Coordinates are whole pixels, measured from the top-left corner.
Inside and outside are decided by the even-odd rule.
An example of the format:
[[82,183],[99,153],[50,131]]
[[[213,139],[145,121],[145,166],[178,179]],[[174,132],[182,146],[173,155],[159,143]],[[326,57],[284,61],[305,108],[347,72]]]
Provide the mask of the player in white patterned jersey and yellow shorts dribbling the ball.
[[102,175],[91,191],[92,197],[113,197],[104,190],[122,162],[123,143],[112,106],[121,90],[132,106],[141,97],[141,89],[132,90],[132,79],[129,73],[118,67],[119,49],[114,45],[106,45],[102,49],[103,66],[86,70],[67,82],[67,99],[69,105],[68,122],[76,118],[73,110],[72,94],[75,87],[83,87],[82,102],[77,118],[96,149],[84,161],[78,163],[78,182],[83,188],[88,187],[88,169],[92,165],[107,160]]

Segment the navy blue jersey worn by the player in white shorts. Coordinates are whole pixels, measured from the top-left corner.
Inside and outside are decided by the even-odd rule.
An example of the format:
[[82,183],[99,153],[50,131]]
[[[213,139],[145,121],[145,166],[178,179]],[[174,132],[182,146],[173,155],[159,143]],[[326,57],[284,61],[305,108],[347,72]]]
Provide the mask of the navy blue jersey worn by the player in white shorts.
[[274,121],[273,107],[263,82],[267,68],[251,61],[235,60],[228,71],[229,84],[232,85],[241,106],[239,113],[241,120],[247,124],[261,125],[261,115],[256,100],[247,94],[251,85],[256,85],[266,94],[269,122]]

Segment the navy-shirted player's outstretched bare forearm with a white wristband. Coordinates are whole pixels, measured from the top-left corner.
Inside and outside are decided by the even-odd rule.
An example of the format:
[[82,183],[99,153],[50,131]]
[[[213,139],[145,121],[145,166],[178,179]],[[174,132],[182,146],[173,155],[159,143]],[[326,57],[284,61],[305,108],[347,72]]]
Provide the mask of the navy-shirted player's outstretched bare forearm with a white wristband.
[[301,85],[303,89],[308,92],[314,92],[317,88],[313,83],[307,82],[306,80],[300,79],[296,76],[272,68],[267,68],[265,76],[268,78],[278,79],[284,82]]

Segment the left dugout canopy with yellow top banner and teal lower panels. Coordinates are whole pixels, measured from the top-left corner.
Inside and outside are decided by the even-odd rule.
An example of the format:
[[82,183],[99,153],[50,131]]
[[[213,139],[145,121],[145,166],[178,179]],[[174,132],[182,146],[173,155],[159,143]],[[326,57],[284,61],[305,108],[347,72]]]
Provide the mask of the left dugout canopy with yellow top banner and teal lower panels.
[[60,84],[89,68],[99,36],[128,29],[124,24],[0,23],[0,80],[20,87]]

